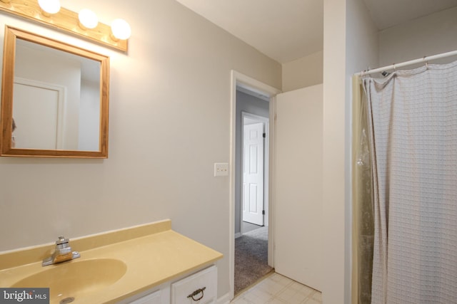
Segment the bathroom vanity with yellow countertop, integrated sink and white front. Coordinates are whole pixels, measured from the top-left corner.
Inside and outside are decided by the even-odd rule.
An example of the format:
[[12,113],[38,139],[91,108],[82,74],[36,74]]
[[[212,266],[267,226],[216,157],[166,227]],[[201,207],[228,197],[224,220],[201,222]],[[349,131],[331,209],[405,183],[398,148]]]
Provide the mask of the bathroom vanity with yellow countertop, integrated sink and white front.
[[218,251],[171,221],[70,240],[81,257],[42,266],[54,246],[0,253],[0,287],[50,288],[50,303],[216,303]]

